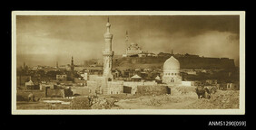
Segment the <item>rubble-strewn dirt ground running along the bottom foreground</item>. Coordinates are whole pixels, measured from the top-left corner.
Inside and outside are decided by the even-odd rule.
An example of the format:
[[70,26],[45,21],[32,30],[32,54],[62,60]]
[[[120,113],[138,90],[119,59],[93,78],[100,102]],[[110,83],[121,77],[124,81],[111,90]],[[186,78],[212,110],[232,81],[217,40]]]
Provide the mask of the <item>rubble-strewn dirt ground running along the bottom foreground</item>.
[[[82,100],[87,99],[81,97]],[[74,100],[74,99],[68,99]],[[72,101],[71,101],[72,102]],[[74,105],[81,105],[79,101]],[[92,100],[89,109],[238,109],[239,90],[217,90],[210,99],[198,99],[194,88],[172,88],[169,95],[133,96],[105,95]],[[17,109],[84,109],[66,104],[39,102],[17,102]]]

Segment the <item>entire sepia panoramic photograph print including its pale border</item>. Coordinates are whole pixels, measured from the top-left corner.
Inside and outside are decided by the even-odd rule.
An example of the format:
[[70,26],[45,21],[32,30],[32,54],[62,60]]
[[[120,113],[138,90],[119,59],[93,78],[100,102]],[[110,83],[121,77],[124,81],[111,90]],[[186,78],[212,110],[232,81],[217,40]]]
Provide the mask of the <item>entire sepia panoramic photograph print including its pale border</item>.
[[244,115],[243,11],[13,11],[13,115]]

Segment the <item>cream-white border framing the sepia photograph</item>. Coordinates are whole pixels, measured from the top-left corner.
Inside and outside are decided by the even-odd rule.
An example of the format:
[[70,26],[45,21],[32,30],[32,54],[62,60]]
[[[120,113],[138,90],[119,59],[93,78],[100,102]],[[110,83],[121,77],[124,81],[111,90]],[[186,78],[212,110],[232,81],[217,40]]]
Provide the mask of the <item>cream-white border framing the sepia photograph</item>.
[[[240,15],[239,109],[16,109],[16,15]],[[12,115],[245,115],[245,11],[13,11],[12,12]]]

